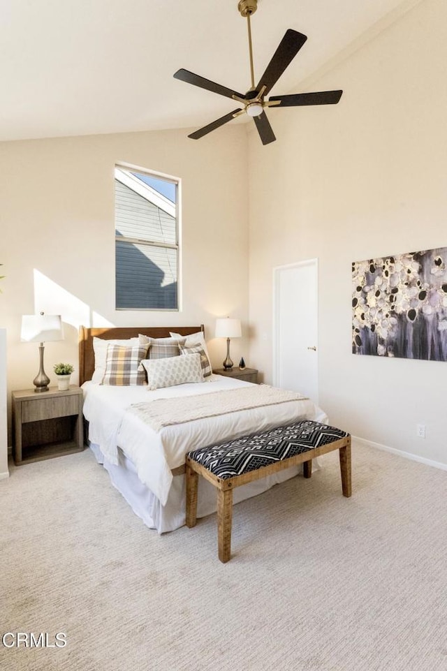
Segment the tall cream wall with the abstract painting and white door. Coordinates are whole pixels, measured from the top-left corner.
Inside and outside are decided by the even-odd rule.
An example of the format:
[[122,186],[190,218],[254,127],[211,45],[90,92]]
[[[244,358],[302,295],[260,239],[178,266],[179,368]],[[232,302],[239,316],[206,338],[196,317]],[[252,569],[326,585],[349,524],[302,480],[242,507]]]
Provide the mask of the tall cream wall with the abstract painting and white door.
[[446,45],[447,3],[426,0],[307,89],[338,105],[270,110],[267,147],[249,133],[251,364],[271,381],[272,268],[318,258],[321,406],[441,464],[447,363],[351,353],[351,262],[447,246]]

